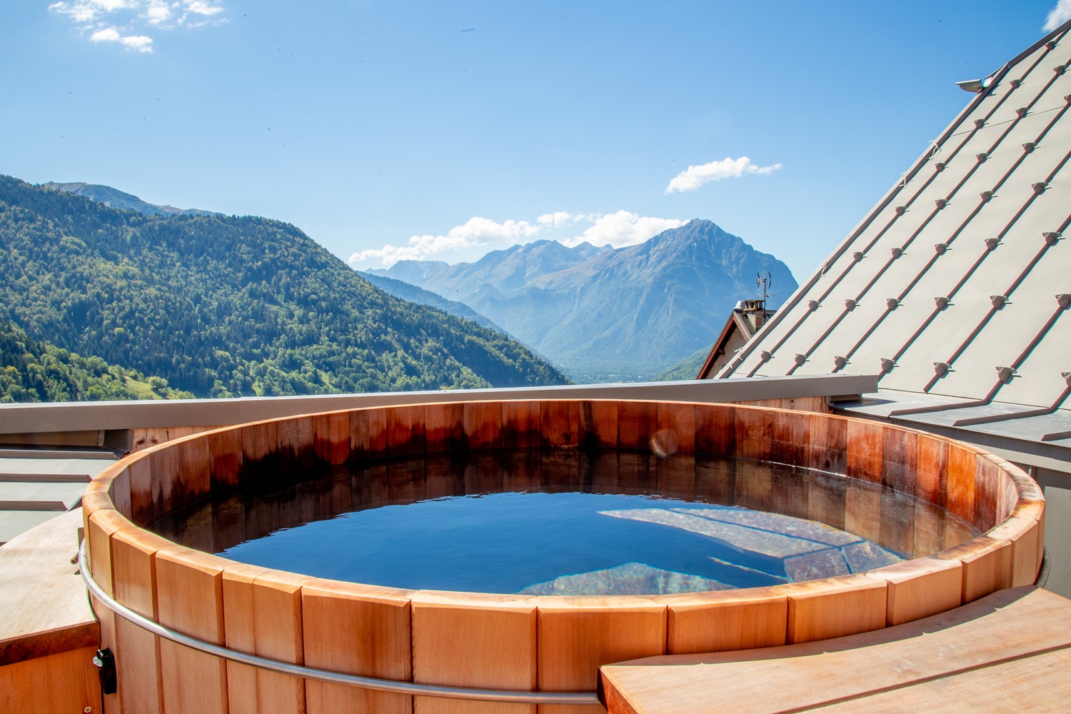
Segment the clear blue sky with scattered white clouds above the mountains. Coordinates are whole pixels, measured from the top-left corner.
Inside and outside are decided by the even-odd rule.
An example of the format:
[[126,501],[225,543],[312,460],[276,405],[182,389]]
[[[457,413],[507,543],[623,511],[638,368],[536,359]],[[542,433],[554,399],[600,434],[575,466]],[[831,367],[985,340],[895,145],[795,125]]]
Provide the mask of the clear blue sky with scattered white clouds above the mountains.
[[709,218],[802,278],[1054,10],[12,0],[0,173],[287,221],[360,268]]

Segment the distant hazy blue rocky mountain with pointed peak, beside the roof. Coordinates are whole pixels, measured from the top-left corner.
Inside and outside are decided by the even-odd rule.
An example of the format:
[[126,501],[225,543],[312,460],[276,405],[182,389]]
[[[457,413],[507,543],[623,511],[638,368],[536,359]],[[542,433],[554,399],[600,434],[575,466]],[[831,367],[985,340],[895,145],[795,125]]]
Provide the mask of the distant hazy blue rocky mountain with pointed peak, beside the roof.
[[796,289],[783,262],[700,219],[587,256],[540,241],[474,263],[382,272],[459,300],[576,379],[647,379],[708,347],[736,302],[755,294],[757,273],[781,295]]

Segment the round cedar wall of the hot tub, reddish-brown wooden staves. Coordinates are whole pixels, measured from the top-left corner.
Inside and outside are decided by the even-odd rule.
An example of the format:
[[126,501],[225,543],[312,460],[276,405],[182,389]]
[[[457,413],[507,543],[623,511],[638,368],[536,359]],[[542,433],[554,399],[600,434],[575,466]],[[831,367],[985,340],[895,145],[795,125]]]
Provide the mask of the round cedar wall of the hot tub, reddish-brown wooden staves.
[[[213,493],[270,477],[273,462],[323,466],[534,447],[649,452],[652,444],[809,466],[881,484],[947,508],[984,534],[864,575],[680,595],[548,597],[325,580],[236,563],[142,528]],[[675,475],[659,486],[687,491],[688,485],[669,486]],[[873,489],[857,492],[850,483],[846,498],[871,498],[875,522],[884,506],[891,507],[890,500],[868,496]],[[768,484],[750,486],[761,490]],[[698,492],[716,489],[718,483],[692,487]],[[613,662],[856,634],[1030,584],[1041,564],[1044,519],[1044,498],[1029,476],[948,439],[802,411],[599,400],[379,407],[223,428],[117,462],[90,484],[84,506],[94,579],[119,602],[172,629],[340,672],[556,692],[593,692],[599,667]],[[844,503],[810,507],[805,517],[833,523],[845,518]],[[845,527],[860,532],[866,523]],[[912,538],[927,537],[926,523],[907,527]],[[97,603],[94,609],[103,645],[116,653],[119,692],[106,702],[111,712],[537,711],[529,704],[413,698],[256,670],[162,641]]]

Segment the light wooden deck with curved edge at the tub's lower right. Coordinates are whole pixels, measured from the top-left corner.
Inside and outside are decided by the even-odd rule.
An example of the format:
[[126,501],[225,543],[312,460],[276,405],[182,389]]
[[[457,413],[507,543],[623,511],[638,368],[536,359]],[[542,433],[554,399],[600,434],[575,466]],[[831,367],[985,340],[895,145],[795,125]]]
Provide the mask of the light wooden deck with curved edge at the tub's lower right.
[[1037,588],[836,639],[602,668],[609,714],[1071,711],[1071,601]]

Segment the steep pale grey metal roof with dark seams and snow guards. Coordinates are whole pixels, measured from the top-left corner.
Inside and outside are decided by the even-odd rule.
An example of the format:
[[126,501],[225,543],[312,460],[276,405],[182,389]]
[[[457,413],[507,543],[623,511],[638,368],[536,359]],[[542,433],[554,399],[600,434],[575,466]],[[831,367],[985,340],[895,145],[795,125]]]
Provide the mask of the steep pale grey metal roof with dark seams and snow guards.
[[1071,445],[1069,27],[991,75],[719,377],[878,374],[930,396],[892,414]]

